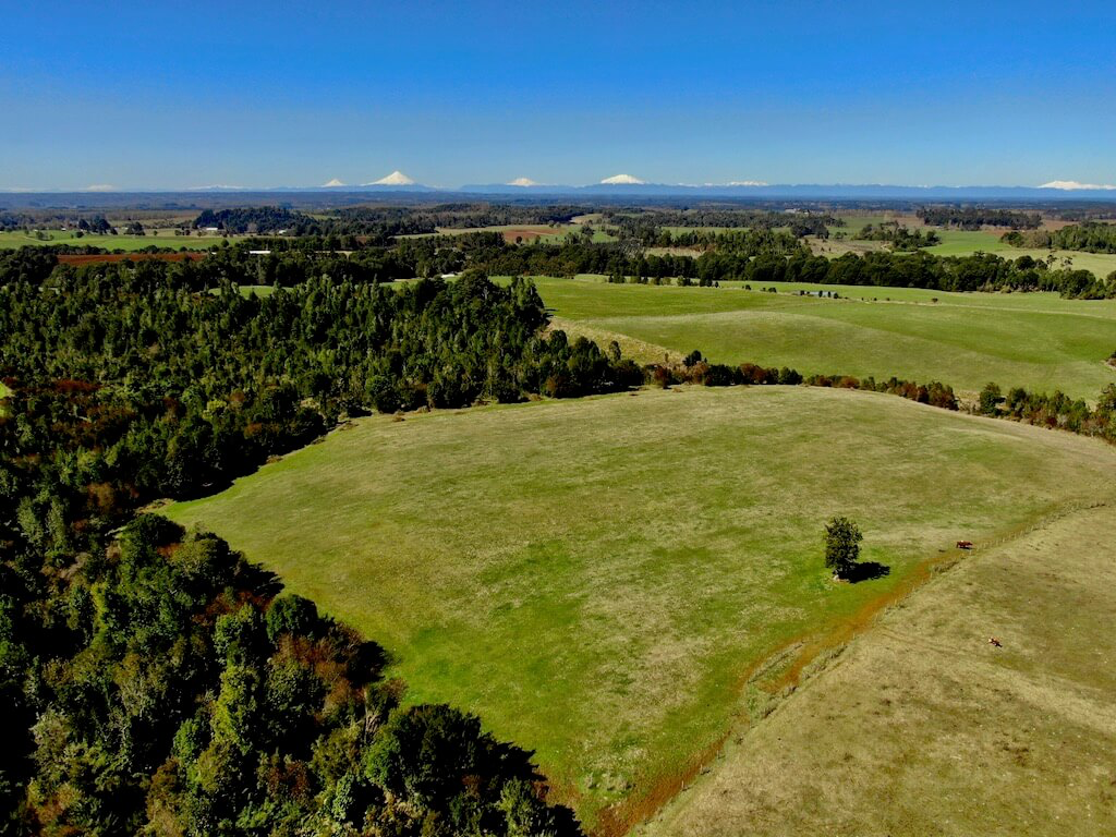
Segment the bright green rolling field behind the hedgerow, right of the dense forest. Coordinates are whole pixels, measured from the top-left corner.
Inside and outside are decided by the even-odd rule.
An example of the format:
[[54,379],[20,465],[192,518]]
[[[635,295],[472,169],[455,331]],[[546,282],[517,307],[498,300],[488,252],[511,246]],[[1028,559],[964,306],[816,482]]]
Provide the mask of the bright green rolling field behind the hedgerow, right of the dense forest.
[[[790,292],[766,294],[537,281],[543,301],[567,324],[662,350],[696,348],[721,363],[936,378],[968,393],[994,381],[1094,400],[1116,382],[1116,371],[1105,364],[1116,349],[1116,300],[797,283],[776,285]],[[797,296],[818,288],[848,298]]]

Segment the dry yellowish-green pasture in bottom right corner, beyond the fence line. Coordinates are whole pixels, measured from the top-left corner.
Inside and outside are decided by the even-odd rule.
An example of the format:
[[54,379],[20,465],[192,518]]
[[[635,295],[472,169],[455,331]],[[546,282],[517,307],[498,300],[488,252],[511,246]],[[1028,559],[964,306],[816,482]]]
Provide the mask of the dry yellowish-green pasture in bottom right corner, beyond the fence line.
[[978,551],[739,727],[642,833],[1116,834],[1114,542],[1109,504]]

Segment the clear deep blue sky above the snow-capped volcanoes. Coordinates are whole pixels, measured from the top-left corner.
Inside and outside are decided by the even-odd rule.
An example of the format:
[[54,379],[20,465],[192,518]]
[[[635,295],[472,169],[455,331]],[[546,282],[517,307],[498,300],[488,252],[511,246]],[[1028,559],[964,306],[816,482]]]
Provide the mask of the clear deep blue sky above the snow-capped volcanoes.
[[3,6],[0,189],[1116,183],[1112,0]]

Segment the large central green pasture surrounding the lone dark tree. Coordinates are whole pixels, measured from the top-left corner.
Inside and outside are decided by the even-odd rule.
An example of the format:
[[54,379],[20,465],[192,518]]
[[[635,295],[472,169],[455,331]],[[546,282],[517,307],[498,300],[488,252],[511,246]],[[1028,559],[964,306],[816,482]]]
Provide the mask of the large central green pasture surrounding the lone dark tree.
[[[382,642],[410,700],[537,749],[616,833],[768,700],[764,661],[1114,468],[1100,443],[892,396],[693,388],[373,416],[167,513]],[[829,580],[836,513],[891,575]]]

